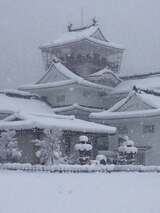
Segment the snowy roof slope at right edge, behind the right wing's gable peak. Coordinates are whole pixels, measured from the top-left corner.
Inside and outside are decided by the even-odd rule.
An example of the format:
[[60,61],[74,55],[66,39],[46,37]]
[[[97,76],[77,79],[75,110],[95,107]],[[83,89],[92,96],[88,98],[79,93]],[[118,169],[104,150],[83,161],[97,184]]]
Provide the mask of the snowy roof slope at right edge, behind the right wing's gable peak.
[[150,76],[143,79],[130,79],[122,81],[113,89],[112,93],[128,93],[133,89],[133,86],[144,89],[160,89],[160,75]]

